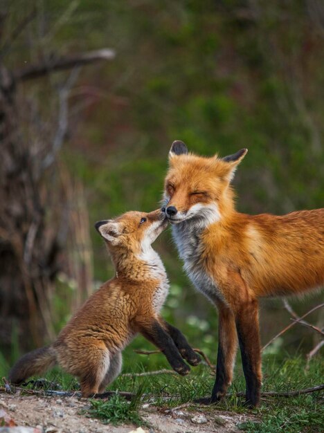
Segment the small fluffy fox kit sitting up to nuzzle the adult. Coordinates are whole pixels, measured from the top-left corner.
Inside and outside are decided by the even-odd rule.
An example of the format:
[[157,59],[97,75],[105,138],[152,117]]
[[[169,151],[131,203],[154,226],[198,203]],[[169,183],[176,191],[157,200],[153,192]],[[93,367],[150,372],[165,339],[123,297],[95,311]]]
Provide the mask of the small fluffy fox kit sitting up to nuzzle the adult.
[[120,373],[121,351],[141,333],[155,344],[181,375],[200,357],[159,312],[168,295],[168,277],[151,243],[168,225],[161,210],[127,212],[99,221],[116,276],[103,284],[62,329],[49,347],[27,353],[12,367],[11,383],[24,382],[58,363],[80,380],[82,396],[102,393]]

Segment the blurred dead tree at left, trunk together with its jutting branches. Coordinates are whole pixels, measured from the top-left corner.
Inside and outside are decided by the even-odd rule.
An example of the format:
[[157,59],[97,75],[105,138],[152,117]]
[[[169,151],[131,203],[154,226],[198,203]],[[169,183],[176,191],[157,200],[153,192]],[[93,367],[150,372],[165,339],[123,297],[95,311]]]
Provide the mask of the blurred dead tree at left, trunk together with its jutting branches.
[[30,66],[22,73],[10,73],[0,58],[0,341],[5,351],[10,351],[13,335],[23,350],[54,338],[51,301],[67,236],[60,226],[69,221],[67,204],[60,201],[55,208],[55,197],[69,198],[55,190],[51,174],[66,134],[67,97],[76,74],[59,91],[54,138],[40,137],[39,149],[19,131],[17,83],[112,57],[111,50],[98,50]]

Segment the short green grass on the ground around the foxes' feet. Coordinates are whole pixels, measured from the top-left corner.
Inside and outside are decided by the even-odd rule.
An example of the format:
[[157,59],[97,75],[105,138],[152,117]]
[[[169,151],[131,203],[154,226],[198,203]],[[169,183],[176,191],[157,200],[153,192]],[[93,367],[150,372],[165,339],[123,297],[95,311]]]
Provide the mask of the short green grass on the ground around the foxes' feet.
[[[154,355],[155,356],[155,355]],[[154,368],[168,368],[163,356],[156,355]],[[146,357],[151,358],[151,357]],[[145,359],[136,356],[136,359]],[[150,362],[148,362],[150,365]],[[264,385],[263,391],[291,391],[309,388],[323,383],[324,361],[318,356],[310,362],[309,369],[305,369],[305,360],[302,356],[285,358],[267,355],[263,359]],[[148,371],[141,363],[130,362],[123,371]],[[55,369],[46,375],[48,381],[59,383],[62,389],[76,389],[77,382],[71,376]],[[138,414],[141,396],[143,401],[150,399],[156,407],[175,407],[210,394],[214,377],[210,369],[204,365],[192,368],[191,374],[185,378],[178,375],[160,375],[145,377],[125,377],[120,375],[110,387],[112,390],[130,391],[136,394],[134,402],[128,403],[123,398],[114,396],[111,400],[91,400],[91,407],[87,416],[102,419],[105,423],[134,423],[143,425]],[[31,387],[32,385],[30,385]],[[48,387],[51,387],[48,385]],[[244,398],[237,396],[238,391],[244,391],[245,383],[240,360],[235,369],[235,380],[228,390],[231,396],[224,398],[216,407],[206,407],[204,411],[217,417],[217,411],[226,410],[240,414],[252,414],[253,421],[241,423],[240,429],[248,432],[324,432],[323,419],[323,393],[305,394],[294,398],[267,397],[262,399],[258,409],[250,411],[242,406]],[[52,388],[53,389],[53,388]],[[216,413],[215,413],[216,412]],[[256,420],[256,421],[255,421]]]

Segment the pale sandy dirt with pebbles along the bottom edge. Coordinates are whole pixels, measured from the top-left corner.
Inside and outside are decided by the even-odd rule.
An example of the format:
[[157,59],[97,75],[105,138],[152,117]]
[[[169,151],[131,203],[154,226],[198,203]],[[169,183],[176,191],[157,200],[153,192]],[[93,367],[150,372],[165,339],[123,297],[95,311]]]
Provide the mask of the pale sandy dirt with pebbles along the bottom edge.
[[[75,397],[17,396],[0,394],[0,414],[17,426],[34,427],[37,433],[208,433],[238,432],[238,423],[248,419],[245,414],[219,411],[216,408],[199,408],[192,411],[182,407],[173,411],[162,411],[150,405],[143,405],[141,416],[151,426],[138,429],[134,425],[114,427],[80,414],[87,409],[87,400]],[[249,416],[252,419],[251,416]],[[7,423],[7,425],[10,425]],[[1,432],[0,428],[0,432]],[[10,432],[11,429],[6,430]],[[12,430],[14,432],[15,430]],[[17,431],[17,430],[16,430]]]

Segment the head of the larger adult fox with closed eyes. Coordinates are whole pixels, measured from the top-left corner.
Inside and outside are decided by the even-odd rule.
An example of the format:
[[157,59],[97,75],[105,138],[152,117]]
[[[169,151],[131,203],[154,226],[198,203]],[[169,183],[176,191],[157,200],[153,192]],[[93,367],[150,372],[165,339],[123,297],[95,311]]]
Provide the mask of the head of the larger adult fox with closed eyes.
[[162,210],[170,223],[222,219],[222,199],[235,169],[247,149],[225,158],[203,158],[188,154],[186,145],[174,141],[170,149],[170,168],[165,178]]

